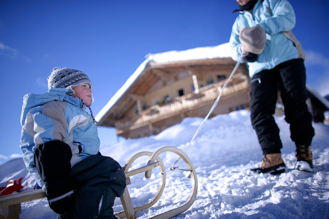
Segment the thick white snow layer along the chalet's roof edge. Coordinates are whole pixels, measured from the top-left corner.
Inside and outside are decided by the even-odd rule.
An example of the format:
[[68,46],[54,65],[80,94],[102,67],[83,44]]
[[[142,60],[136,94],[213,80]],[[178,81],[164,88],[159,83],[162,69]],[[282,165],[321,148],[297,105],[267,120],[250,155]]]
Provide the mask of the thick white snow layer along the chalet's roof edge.
[[148,63],[165,63],[175,61],[191,61],[230,58],[231,49],[229,43],[223,43],[218,46],[197,47],[182,51],[168,51],[164,53],[148,54],[136,71],[128,78],[126,83],[114,94],[110,101],[99,111],[95,119],[99,122],[105,114],[114,106],[118,99],[126,92],[126,90],[136,81],[139,75],[146,69]]

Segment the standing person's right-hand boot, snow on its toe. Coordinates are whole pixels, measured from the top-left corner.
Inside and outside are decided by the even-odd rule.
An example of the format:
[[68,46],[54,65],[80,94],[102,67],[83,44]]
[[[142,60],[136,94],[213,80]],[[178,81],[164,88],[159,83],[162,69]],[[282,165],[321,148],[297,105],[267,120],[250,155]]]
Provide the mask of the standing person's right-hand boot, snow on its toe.
[[[306,145],[296,145],[296,152],[295,155],[297,157],[297,162],[295,164],[295,169],[301,170],[301,171],[309,171],[313,172],[313,154],[311,151],[311,146]],[[309,167],[307,164],[309,164]]]

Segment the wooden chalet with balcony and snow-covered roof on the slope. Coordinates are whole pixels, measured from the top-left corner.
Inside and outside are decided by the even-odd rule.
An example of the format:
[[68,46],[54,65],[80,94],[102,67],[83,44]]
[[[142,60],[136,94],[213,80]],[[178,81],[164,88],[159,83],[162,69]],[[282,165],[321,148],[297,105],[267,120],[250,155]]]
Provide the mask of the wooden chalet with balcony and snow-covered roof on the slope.
[[[138,138],[158,134],[185,117],[204,117],[235,64],[228,43],[148,55],[97,114],[98,125]],[[211,116],[248,108],[249,81],[241,64]]]

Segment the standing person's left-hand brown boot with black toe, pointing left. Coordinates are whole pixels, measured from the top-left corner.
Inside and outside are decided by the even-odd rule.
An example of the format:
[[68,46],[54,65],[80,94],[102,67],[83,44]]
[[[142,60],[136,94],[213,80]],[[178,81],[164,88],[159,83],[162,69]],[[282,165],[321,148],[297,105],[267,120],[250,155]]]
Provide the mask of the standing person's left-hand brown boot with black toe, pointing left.
[[281,154],[266,154],[260,168],[251,169],[256,173],[281,174],[286,171],[286,165],[281,158]]

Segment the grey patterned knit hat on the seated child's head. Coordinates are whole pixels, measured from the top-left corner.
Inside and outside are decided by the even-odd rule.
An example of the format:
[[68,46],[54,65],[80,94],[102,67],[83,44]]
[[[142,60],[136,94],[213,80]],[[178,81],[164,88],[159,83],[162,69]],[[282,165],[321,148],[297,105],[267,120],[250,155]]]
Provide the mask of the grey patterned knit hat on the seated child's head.
[[89,77],[82,71],[71,68],[54,68],[48,78],[48,89],[50,87],[66,88],[67,95],[73,96],[75,86],[88,83],[91,87]]

